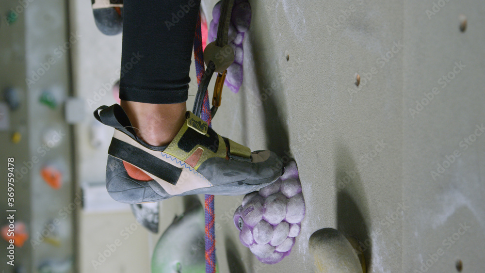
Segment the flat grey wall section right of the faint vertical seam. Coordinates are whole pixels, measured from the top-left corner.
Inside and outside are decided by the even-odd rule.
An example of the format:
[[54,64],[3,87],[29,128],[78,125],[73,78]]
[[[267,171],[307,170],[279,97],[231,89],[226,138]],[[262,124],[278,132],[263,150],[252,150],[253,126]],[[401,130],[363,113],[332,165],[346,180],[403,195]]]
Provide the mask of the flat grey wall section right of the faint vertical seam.
[[402,268],[483,272],[485,3],[435,2],[404,6]]

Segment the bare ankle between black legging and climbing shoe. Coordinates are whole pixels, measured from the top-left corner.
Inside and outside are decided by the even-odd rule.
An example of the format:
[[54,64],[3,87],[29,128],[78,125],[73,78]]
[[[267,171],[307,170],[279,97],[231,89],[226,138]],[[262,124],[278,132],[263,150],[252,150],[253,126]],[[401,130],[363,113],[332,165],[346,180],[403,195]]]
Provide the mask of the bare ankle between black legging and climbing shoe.
[[187,112],[185,102],[151,104],[122,100],[120,104],[137,136],[153,146],[168,145],[182,128]]

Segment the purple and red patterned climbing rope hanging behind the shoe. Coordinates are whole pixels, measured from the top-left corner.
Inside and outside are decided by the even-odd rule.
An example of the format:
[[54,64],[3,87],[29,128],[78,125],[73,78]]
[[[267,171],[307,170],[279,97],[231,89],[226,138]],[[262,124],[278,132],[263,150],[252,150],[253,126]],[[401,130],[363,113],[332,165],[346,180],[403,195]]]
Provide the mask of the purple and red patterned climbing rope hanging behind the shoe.
[[[197,19],[197,26],[195,28],[194,59],[195,73],[197,74],[197,84],[200,86],[205,71],[204,56],[202,53],[200,11]],[[210,123],[212,118],[210,115],[209,92],[207,89],[205,90],[204,94],[200,118],[206,121],[209,127],[211,127]],[[206,194],[205,196],[205,218],[206,273],[215,273],[214,195]]]

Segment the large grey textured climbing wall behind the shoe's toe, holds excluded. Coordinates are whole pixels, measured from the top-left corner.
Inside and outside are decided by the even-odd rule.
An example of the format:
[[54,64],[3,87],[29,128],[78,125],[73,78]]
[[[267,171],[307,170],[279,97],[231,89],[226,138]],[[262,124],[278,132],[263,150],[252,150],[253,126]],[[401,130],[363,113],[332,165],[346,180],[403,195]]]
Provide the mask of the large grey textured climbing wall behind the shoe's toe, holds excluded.
[[226,220],[240,200],[218,196],[221,268],[311,272],[309,236],[334,227],[364,242],[370,272],[457,272],[459,260],[464,272],[482,271],[485,4],[251,4],[246,78],[239,94],[223,95],[213,127],[292,155],[307,215],[292,254],[264,265]]

